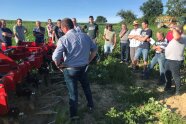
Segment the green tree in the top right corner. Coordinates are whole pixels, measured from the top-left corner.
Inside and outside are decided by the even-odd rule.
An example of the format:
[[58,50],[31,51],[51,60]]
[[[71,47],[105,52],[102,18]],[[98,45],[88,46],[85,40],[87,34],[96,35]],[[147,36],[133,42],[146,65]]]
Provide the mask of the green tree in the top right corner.
[[166,3],[167,14],[170,16],[182,16],[186,12],[186,0],[168,0]]

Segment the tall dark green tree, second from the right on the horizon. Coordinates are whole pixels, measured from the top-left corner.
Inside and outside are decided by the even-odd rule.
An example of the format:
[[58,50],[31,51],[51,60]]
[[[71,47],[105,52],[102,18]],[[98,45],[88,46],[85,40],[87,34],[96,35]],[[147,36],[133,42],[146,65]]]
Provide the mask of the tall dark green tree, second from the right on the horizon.
[[154,21],[157,16],[163,13],[163,3],[161,0],[148,0],[140,6],[140,10],[143,12],[143,18]]

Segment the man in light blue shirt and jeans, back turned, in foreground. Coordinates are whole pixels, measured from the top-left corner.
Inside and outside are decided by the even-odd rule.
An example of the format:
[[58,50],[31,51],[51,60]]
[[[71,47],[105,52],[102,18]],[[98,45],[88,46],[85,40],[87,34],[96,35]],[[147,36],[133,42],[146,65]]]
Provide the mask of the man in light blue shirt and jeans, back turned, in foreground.
[[[57,42],[57,48],[52,55],[52,59],[56,66],[63,69],[70,97],[70,117],[74,119],[77,117],[78,108],[78,81],[83,87],[88,108],[93,108],[92,93],[87,79],[87,65],[96,56],[97,47],[87,34],[77,32],[74,29],[71,19],[63,19],[61,29],[65,35]],[[64,57],[64,62],[60,65],[62,57]]]

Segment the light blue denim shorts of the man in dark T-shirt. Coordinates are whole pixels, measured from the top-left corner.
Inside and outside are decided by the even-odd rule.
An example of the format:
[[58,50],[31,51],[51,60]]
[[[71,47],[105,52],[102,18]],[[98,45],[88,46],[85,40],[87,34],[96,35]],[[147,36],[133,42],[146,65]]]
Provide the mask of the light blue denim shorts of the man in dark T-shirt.
[[136,53],[135,53],[134,60],[138,60],[140,55],[142,54],[143,55],[143,61],[147,62],[148,52],[149,52],[148,49],[138,48]]

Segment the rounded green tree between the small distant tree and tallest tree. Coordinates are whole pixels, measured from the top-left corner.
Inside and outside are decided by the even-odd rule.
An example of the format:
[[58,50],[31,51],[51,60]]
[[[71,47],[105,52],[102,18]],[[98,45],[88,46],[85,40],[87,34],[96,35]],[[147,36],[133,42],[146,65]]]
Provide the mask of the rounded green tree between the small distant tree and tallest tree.
[[116,16],[120,16],[126,23],[131,23],[136,19],[136,15],[130,10],[120,10]]

